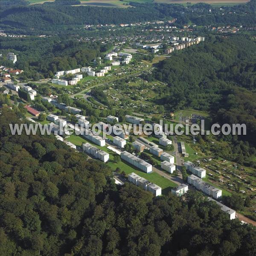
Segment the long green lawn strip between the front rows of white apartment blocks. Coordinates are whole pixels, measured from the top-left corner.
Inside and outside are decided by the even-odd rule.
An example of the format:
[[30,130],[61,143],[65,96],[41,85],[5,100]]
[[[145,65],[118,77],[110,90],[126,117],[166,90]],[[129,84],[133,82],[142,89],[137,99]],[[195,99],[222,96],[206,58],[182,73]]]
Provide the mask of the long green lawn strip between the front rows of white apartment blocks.
[[140,171],[140,169],[137,169],[136,167],[130,165],[129,163],[125,162],[125,161],[120,161],[118,163],[113,162],[113,157],[115,155],[115,153],[111,150],[109,150],[107,148],[107,146],[104,147],[100,147],[96,144],[94,144],[93,142],[89,141],[89,140],[85,140],[83,137],[80,136],[76,136],[74,134],[72,134],[70,137],[68,137],[66,140],[70,141],[71,143],[77,145],[77,146],[81,146],[82,143],[90,143],[94,146],[96,146],[97,148],[100,148],[102,150],[104,150],[105,152],[107,152],[109,154],[109,161],[107,163],[107,165],[109,167],[111,167],[111,169],[116,170],[117,167],[119,167],[121,169],[121,171],[124,171],[126,175],[130,174],[131,172],[136,173],[137,175],[140,175],[141,177],[146,178],[147,180],[156,183],[158,186],[160,186],[162,188],[162,194],[168,194],[169,191],[171,191],[172,187],[177,186],[176,183],[172,182],[171,180],[167,180],[166,178],[162,177],[161,175],[159,175],[156,172],[152,172],[152,173],[145,173]]

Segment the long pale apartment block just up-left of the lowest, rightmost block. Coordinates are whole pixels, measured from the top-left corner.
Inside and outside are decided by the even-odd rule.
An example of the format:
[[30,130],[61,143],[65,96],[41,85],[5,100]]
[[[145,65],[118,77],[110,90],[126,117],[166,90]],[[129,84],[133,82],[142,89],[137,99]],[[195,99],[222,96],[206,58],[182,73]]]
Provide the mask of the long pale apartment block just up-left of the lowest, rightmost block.
[[210,184],[204,182],[201,178],[198,178],[193,174],[188,177],[188,183],[195,186],[198,190],[201,190],[205,194],[212,196],[215,199],[221,197],[222,195],[221,189],[211,186]]

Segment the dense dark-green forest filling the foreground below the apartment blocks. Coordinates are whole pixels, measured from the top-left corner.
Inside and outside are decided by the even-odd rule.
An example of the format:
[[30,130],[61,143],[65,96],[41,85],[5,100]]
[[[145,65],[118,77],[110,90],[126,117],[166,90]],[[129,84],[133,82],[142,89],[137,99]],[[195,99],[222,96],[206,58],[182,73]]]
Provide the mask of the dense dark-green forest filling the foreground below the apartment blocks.
[[256,232],[199,192],[185,201],[117,186],[111,170],[53,136],[12,136],[1,109],[1,254],[252,256]]

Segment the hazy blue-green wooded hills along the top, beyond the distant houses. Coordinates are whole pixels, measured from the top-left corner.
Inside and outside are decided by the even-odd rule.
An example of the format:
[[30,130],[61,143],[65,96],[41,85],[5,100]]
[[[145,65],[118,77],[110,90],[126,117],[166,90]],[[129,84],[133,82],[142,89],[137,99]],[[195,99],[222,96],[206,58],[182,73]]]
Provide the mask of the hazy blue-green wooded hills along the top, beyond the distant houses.
[[[6,3],[5,3],[6,2]],[[1,1],[1,27],[6,32],[37,35],[60,33],[84,24],[120,24],[176,18],[176,25],[190,22],[197,25],[255,26],[256,2],[225,6],[224,10],[198,3],[187,7],[177,4],[131,2],[132,7],[108,8],[70,6],[74,1],[55,1],[37,5],[10,4]],[[209,12],[211,9],[211,12]],[[223,15],[224,13],[224,15]]]

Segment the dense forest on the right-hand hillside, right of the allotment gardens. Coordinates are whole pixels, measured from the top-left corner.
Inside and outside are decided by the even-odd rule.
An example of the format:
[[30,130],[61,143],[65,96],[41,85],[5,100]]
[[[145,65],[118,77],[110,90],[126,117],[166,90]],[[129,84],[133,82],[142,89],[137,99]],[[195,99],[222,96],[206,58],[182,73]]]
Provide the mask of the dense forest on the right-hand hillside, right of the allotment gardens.
[[[150,76],[151,79],[151,75]],[[155,101],[171,111],[195,108],[213,122],[245,123],[246,136],[220,136],[230,147],[213,148],[219,156],[255,166],[256,41],[246,36],[209,36],[204,43],[177,52],[157,65],[154,78],[167,88]]]

